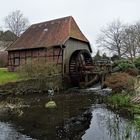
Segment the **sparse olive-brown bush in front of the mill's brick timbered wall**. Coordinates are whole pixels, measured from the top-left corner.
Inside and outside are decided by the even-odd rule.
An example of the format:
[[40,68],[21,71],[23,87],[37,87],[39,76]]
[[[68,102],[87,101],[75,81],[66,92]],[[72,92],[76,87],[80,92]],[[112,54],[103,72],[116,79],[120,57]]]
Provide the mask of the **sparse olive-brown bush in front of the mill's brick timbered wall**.
[[45,78],[61,72],[61,67],[53,62],[45,62],[43,59],[39,61],[28,61],[26,64],[21,65],[18,70],[19,75],[25,79],[29,78]]

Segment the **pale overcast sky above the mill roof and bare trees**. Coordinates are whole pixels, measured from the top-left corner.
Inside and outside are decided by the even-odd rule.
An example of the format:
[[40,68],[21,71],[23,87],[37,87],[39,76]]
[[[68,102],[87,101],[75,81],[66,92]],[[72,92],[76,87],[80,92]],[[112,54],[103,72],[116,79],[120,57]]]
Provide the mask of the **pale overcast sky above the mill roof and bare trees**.
[[4,17],[14,10],[21,10],[30,24],[73,16],[93,50],[100,29],[107,23],[118,18],[124,23],[140,20],[140,0],[1,0],[1,27]]

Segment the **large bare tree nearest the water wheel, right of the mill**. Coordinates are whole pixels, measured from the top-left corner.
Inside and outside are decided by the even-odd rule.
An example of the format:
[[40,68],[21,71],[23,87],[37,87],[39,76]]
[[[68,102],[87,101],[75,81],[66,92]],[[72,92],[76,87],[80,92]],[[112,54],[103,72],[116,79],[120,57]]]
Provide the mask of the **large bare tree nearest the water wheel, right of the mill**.
[[124,32],[124,25],[120,20],[113,21],[107,25],[106,28],[101,30],[101,34],[96,40],[99,47],[103,47],[119,58],[125,53],[122,48],[122,35]]

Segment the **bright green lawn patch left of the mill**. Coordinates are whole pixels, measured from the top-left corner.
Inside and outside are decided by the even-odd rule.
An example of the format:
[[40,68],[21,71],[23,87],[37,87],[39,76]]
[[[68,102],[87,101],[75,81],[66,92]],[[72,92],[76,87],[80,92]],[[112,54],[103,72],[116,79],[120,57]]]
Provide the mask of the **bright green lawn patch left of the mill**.
[[16,72],[8,72],[7,68],[0,68],[0,84],[19,80],[19,75]]

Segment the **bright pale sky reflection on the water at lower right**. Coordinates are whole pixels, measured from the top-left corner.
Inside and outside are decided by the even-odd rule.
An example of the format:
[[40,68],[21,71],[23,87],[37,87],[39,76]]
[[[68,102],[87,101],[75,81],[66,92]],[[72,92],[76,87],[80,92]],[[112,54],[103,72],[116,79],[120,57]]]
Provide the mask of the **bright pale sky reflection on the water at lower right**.
[[83,140],[139,140],[140,133],[127,119],[101,105],[93,107],[90,129]]

